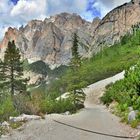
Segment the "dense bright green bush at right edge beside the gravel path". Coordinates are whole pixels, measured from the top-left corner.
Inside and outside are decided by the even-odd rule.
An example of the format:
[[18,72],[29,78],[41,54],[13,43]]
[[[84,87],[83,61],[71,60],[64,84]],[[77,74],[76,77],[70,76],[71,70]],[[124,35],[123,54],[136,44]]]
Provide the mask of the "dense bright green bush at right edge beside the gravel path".
[[[111,102],[118,102],[117,115],[127,122],[128,107],[140,111],[140,62],[134,67],[126,70],[125,78],[117,81],[115,84],[108,86],[105,94],[101,97],[104,104],[109,105]],[[140,122],[140,113],[137,114],[137,120],[131,123],[136,127]]]

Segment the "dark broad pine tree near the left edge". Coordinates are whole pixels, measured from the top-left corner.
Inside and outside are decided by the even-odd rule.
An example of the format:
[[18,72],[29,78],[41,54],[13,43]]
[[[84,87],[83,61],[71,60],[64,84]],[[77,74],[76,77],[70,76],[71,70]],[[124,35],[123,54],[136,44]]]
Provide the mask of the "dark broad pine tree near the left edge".
[[4,55],[5,85],[9,87],[11,96],[26,91],[27,79],[23,79],[23,63],[15,42],[8,42]]

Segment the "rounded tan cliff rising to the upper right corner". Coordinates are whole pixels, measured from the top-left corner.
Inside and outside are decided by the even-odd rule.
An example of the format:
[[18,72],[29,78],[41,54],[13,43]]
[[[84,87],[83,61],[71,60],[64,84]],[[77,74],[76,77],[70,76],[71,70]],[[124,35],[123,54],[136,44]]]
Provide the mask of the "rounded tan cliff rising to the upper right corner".
[[109,12],[94,31],[92,53],[100,51],[101,46],[112,45],[120,37],[130,32],[132,25],[140,22],[140,0],[132,0]]

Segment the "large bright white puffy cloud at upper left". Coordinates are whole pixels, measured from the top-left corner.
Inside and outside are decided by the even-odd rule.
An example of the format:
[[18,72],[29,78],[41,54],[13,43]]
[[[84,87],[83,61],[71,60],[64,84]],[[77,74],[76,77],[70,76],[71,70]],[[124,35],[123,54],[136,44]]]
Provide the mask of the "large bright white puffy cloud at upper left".
[[18,17],[21,21],[33,18],[40,19],[46,14],[46,0],[20,0],[10,12],[11,17]]

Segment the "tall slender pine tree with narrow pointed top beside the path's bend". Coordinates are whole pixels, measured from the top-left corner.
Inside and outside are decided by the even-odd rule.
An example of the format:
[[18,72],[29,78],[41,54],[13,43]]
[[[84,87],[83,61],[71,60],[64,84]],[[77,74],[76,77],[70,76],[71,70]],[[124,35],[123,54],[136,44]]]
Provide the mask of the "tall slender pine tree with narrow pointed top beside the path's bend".
[[[85,82],[80,81],[78,76],[78,71],[81,66],[81,57],[78,52],[79,41],[76,33],[73,35],[73,46],[72,46],[72,59],[70,62],[70,67],[72,72],[69,74],[68,81],[68,90],[70,91],[70,97],[74,101],[75,105],[83,104],[85,99],[85,94],[82,90]],[[72,74],[72,75],[71,75]]]

